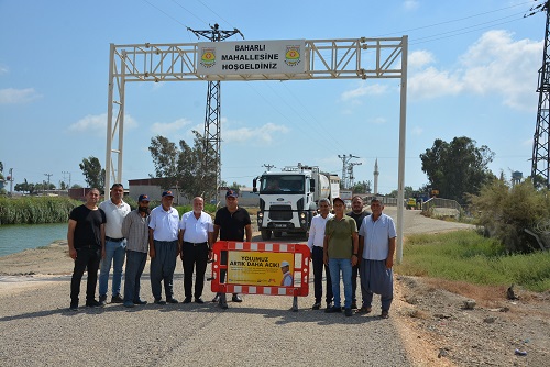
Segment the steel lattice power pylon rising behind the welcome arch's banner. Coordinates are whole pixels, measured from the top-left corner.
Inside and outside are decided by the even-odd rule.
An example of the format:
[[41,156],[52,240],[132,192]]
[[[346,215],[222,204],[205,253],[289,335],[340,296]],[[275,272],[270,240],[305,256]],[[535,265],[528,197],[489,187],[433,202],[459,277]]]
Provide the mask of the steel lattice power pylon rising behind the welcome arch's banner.
[[[209,40],[210,42],[221,42],[232,35],[240,34],[243,40],[244,35],[238,29],[232,31],[220,30],[218,23],[213,26],[210,25],[210,30],[195,31],[187,27],[188,31],[195,33],[195,35],[200,38],[201,36]],[[205,152],[205,158],[202,160],[202,171],[211,171],[212,167],[216,171],[216,185],[211,188],[209,194],[215,196],[218,192],[218,188],[221,185],[221,86],[220,81],[208,81],[208,92],[207,92],[207,107],[206,107],[206,118],[205,118],[205,134],[202,135],[202,146]],[[213,153],[215,158],[211,159],[210,156]],[[207,191],[207,192],[208,192]]]

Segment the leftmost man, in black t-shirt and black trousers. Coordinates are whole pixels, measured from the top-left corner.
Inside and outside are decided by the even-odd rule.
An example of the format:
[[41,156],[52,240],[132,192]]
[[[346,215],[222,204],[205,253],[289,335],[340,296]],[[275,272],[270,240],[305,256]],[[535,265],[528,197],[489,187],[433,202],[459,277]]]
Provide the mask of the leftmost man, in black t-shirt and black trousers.
[[69,215],[67,242],[69,256],[75,260],[70,279],[70,310],[78,310],[80,281],[86,268],[88,281],[86,287],[86,305],[101,307],[96,301],[96,285],[101,257],[105,256],[106,214],[97,207],[99,190],[91,189],[86,194],[86,203],[73,209]]

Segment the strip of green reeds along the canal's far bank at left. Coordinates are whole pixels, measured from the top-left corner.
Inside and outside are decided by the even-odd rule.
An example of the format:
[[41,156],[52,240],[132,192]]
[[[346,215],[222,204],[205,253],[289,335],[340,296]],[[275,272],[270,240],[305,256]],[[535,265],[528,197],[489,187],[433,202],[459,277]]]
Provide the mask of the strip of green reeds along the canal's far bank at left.
[[81,202],[62,197],[0,197],[0,224],[44,224],[68,221]]

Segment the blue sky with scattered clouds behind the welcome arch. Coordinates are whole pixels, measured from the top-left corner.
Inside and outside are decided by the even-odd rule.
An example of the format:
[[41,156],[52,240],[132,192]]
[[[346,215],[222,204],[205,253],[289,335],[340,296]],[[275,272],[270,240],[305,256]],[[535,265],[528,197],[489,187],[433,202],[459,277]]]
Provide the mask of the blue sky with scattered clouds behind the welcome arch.
[[[540,2],[540,1],[539,1]],[[409,36],[405,185],[427,182],[419,155],[436,138],[469,136],[490,168],[530,175],[544,14],[534,1],[37,1],[0,0],[0,160],[22,182],[85,186],[78,167],[105,167],[109,44],[195,43],[186,29],[238,27],[249,41]],[[240,41],[233,37],[231,41]],[[200,40],[204,41],[204,40]],[[123,182],[154,174],[155,135],[204,131],[206,82],[127,88]],[[264,164],[298,162],[397,188],[398,79],[221,85],[222,179],[252,185]]]

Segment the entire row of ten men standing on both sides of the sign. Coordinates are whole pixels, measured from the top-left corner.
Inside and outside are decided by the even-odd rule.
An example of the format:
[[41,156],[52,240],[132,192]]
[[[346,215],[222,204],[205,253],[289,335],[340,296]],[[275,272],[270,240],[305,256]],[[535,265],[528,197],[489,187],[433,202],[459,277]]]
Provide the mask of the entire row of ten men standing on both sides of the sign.
[[[78,309],[80,281],[88,270],[86,305],[102,307],[107,302],[108,280],[113,268],[111,303],[132,308],[145,304],[140,298],[140,279],[145,268],[147,251],[151,257],[151,289],[154,303],[178,303],[174,297],[174,271],[179,256],[184,267],[184,303],[205,303],[202,290],[208,260],[212,258],[212,245],[221,241],[252,241],[252,227],[246,210],[238,205],[238,194],[228,190],[226,207],[212,219],[204,212],[205,202],[194,198],[193,211],[179,218],[173,207],[174,194],[164,191],[161,205],[148,209],[150,198],[142,194],[138,209],[131,211],[123,198],[121,184],[111,187],[110,199],[99,205],[99,190],[91,189],[86,203],[75,208],[68,223],[69,256],[75,260],[70,282],[70,310]],[[371,200],[372,213],[363,211],[363,200],[352,199],[352,211],[344,213],[345,203],[334,198],[333,213],[328,199],[319,200],[319,214],[311,221],[308,246],[314,265],[314,310],[321,308],[322,271],[327,277],[326,302],[328,313],[342,311],[340,281],[344,286],[343,310],[346,316],[352,309],[359,313],[372,311],[373,293],[381,294],[382,318],[388,318],[393,300],[393,257],[396,231],[392,218],[384,214],[380,198]],[[127,263],[124,293],[121,294],[122,267]],[[227,252],[220,263],[227,264]],[[95,299],[98,269],[99,301]],[[193,275],[196,274],[195,288]],[[358,308],[358,275],[361,275],[362,305]],[[220,273],[221,282],[226,271]],[[162,298],[164,285],[165,300]],[[232,294],[233,302],[242,302]],[[217,293],[212,302],[227,309],[224,293]]]

